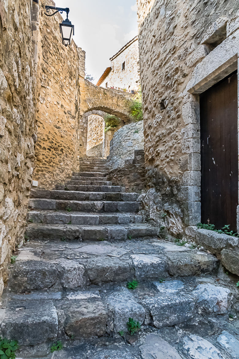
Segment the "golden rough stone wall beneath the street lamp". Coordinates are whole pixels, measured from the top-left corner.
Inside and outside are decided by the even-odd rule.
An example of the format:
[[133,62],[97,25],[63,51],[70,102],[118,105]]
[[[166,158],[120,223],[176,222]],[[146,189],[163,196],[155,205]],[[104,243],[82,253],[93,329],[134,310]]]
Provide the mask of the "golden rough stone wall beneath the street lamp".
[[[40,88],[33,179],[38,181],[40,188],[47,185],[51,189],[70,178],[76,168],[81,67],[78,53],[81,49],[73,41],[71,46],[62,45],[59,32],[62,17],[59,13],[53,17],[44,16],[45,3],[40,3]],[[54,5],[53,1],[47,4]]]

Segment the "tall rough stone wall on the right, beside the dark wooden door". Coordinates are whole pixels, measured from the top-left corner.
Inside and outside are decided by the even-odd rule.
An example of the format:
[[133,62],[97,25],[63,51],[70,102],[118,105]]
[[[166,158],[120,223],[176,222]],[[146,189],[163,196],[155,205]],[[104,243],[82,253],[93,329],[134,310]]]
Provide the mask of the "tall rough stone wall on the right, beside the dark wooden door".
[[145,165],[147,186],[154,191],[148,203],[157,202],[159,217],[166,215],[165,225],[178,235],[185,225],[200,222],[200,91],[193,86],[199,73],[199,85],[206,75],[214,81],[208,80],[204,90],[215,83],[215,73],[228,61],[222,52],[233,52],[233,43],[238,47],[239,4],[235,0],[138,0],[137,4]]

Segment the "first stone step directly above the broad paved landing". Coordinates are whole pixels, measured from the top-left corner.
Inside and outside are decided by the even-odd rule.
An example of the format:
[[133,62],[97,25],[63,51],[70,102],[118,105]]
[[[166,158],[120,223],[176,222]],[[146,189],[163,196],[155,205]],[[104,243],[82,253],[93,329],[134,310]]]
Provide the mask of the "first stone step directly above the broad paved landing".
[[[97,225],[98,216],[72,215],[74,224],[30,223],[25,236],[39,240],[70,240],[70,241],[125,241],[127,238],[145,238],[157,236],[157,231],[147,224]],[[69,221],[70,222],[70,221]],[[68,222],[68,223],[69,223]],[[87,222],[84,225],[84,222]],[[124,222],[124,219],[123,219]]]

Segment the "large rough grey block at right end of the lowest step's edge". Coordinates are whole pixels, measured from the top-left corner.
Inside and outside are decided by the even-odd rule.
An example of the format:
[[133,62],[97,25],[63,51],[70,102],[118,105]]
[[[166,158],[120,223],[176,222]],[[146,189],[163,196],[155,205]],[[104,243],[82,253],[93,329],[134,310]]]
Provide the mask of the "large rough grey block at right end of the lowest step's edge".
[[186,295],[158,296],[142,301],[156,328],[183,323],[193,317],[194,302]]

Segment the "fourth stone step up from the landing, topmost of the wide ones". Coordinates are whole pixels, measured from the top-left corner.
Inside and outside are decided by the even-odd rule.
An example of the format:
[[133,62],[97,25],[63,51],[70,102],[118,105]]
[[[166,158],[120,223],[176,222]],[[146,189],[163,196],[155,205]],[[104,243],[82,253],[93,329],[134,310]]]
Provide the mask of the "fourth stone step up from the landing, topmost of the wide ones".
[[[119,187],[120,189],[120,187]],[[59,190],[32,190],[32,198],[47,198],[52,200],[69,201],[137,201],[138,193],[124,192],[86,192],[86,191],[59,191]]]

